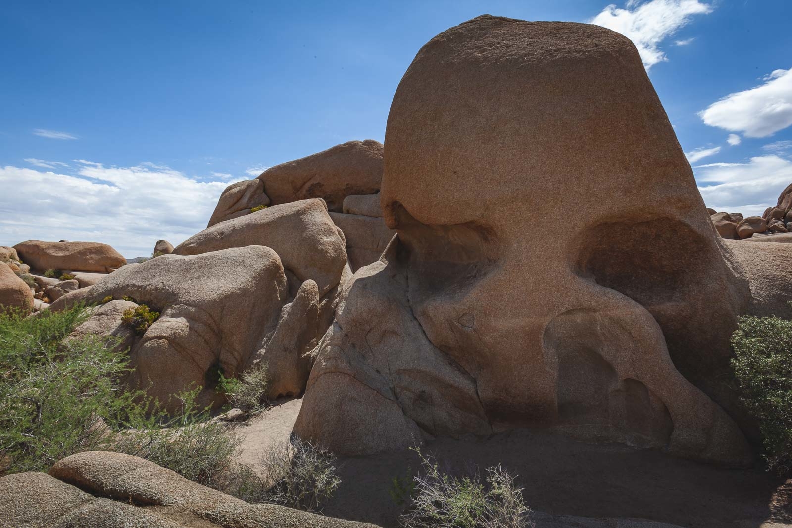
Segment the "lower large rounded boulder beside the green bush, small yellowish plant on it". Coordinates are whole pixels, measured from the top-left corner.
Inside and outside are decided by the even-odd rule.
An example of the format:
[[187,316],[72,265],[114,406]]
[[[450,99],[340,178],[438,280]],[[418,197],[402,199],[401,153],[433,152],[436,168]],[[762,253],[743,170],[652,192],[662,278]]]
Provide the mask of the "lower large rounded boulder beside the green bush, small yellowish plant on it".
[[[128,296],[161,312],[130,351],[133,386],[162,402],[190,385],[203,386],[201,405],[223,401],[214,391],[218,369],[233,376],[249,367],[289,300],[276,253],[251,245],[195,256],[165,255],[125,266],[60,298],[51,310],[108,296]],[[89,321],[100,316],[96,313]],[[294,358],[295,363],[300,360]],[[169,402],[169,407],[176,405]]]

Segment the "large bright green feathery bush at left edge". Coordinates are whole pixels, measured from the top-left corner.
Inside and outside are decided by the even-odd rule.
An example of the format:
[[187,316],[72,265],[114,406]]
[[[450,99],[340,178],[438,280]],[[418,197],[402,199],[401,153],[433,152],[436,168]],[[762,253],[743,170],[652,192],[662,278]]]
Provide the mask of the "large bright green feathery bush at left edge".
[[[112,338],[64,340],[89,311],[0,315],[0,474],[47,471],[85,450],[135,454],[220,490],[242,489],[239,439],[181,393],[181,411],[123,383],[130,372]],[[233,485],[232,485],[233,484]]]

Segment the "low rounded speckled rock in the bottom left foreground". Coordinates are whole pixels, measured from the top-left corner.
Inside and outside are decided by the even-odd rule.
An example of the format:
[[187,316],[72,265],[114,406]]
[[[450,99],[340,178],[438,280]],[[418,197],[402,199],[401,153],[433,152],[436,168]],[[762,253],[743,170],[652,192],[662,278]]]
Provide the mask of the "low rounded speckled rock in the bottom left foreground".
[[49,474],[0,478],[0,519],[11,528],[376,528],[245,503],[153,462],[107,451],[63,458]]

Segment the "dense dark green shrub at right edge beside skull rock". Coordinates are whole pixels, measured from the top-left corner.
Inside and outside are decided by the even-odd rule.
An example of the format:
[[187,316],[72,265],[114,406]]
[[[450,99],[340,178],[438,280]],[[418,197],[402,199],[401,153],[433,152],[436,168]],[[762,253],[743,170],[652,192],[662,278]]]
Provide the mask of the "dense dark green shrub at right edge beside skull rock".
[[732,367],[744,407],[756,416],[769,469],[792,472],[792,321],[740,317]]

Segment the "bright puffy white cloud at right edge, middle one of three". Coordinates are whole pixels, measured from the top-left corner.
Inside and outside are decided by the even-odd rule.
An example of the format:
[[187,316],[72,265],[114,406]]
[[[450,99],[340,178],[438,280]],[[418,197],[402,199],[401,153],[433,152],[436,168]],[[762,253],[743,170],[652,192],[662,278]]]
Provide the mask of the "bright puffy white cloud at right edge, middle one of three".
[[775,70],[764,83],[729,93],[699,112],[704,123],[749,138],[764,138],[792,124],[792,68]]

